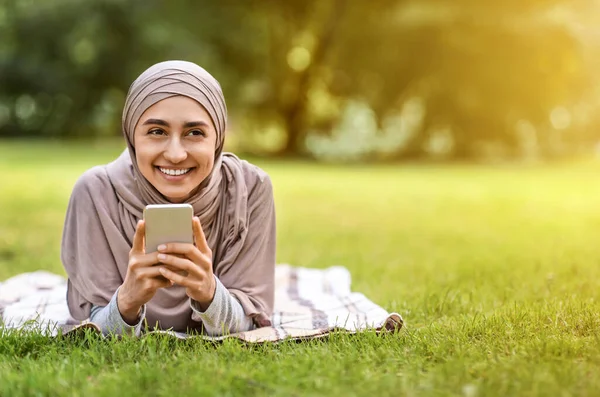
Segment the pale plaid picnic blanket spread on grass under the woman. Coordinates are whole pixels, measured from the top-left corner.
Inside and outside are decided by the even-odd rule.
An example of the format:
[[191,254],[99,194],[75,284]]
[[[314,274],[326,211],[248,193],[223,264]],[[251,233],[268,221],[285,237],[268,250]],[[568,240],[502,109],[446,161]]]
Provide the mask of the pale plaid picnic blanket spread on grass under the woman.
[[[98,327],[89,321],[71,318],[66,302],[66,279],[37,271],[23,273],[0,283],[0,325],[5,328],[34,328],[46,334],[73,333]],[[272,327],[258,328],[204,339],[238,338],[246,342],[277,342],[285,339],[312,339],[331,331],[355,333],[374,329],[394,332],[402,328],[402,317],[351,292],[350,273],[344,267],[308,269],[278,265],[275,271],[275,308]],[[172,331],[178,338],[190,337]]]

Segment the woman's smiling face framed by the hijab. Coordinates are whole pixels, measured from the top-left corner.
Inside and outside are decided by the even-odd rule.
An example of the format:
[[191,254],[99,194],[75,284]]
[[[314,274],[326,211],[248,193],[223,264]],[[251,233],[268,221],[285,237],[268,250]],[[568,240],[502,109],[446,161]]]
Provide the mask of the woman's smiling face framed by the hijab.
[[191,197],[211,173],[217,133],[206,110],[185,96],[149,107],[134,131],[142,175],[172,203]]

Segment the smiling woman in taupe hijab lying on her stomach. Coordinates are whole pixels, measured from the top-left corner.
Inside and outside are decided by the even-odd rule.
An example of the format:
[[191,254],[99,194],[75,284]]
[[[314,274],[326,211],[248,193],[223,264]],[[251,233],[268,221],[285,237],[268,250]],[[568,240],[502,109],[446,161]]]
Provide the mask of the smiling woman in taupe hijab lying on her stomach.
[[[77,320],[104,334],[151,329],[210,335],[270,325],[275,213],[269,177],[222,153],[219,83],[189,62],[156,64],[131,85],[128,150],[86,171],[71,194],[61,258]],[[189,203],[195,244],[144,252],[144,207]]]

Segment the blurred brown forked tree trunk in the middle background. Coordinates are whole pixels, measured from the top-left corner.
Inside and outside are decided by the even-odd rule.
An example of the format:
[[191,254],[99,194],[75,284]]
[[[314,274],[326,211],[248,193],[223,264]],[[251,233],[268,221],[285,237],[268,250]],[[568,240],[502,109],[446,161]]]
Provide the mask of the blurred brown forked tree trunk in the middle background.
[[263,23],[267,29],[269,54],[265,58],[270,95],[258,108],[275,111],[283,120],[284,156],[304,151],[308,132],[307,102],[315,79],[326,68],[325,61],[346,17],[347,0],[262,1]]

